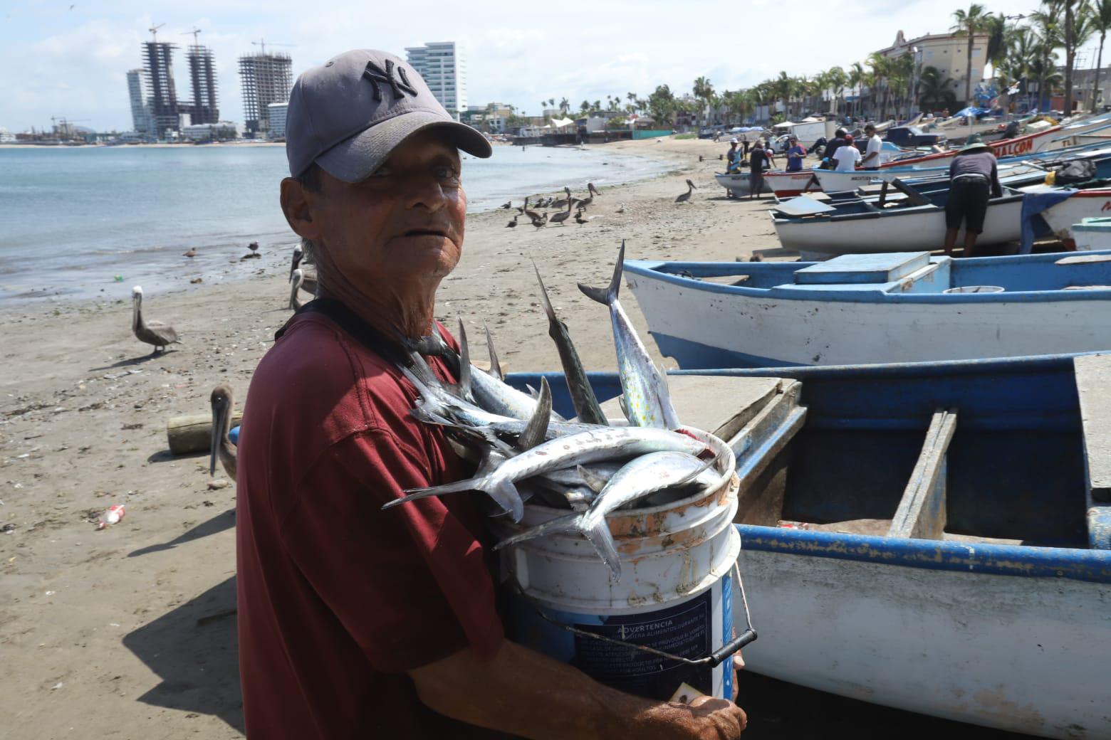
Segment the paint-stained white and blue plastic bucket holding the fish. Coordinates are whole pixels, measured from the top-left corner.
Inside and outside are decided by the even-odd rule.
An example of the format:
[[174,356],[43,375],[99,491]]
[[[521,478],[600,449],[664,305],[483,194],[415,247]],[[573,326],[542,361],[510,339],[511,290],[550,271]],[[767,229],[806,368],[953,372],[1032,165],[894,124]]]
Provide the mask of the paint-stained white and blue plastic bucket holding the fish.
[[[718,480],[663,506],[619,510],[607,524],[621,555],[621,580],[578,535],[526,540],[503,551],[509,636],[577,666],[602,683],[671,699],[683,683],[732,698],[731,661],[691,666],[583,635],[645,646],[698,660],[732,636],[731,569],[740,553],[735,460],[729,446],[687,429],[719,456]],[[542,524],[565,509],[527,505],[520,524],[499,520],[499,537]],[[571,627],[578,631],[567,629]]]

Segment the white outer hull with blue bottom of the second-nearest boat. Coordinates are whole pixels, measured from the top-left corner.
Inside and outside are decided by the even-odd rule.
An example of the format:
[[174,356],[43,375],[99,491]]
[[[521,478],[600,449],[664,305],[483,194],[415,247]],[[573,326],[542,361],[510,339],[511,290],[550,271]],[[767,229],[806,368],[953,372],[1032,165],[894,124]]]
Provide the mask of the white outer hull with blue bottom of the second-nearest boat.
[[660,351],[684,357],[684,368],[929,362],[1111,347],[1111,302],[1097,292],[1068,301],[880,304],[725,295],[697,284],[628,272],[625,277]]

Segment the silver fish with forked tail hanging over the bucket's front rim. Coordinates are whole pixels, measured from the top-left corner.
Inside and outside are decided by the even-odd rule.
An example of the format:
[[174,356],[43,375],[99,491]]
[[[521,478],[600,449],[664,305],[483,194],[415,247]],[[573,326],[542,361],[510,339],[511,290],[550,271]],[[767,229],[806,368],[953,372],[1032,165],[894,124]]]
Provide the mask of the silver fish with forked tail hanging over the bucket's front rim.
[[503,539],[494,546],[501,549],[507,545],[516,545],[544,535],[561,533],[578,533],[590,540],[599,557],[610,568],[613,580],[621,580],[621,558],[605,516],[622,506],[642,498],[651,493],[680,486],[695,478],[714,460],[703,462],[683,452],[658,452],[641,455],[618,470],[605,484],[590,508],[581,514],[570,514],[557,517],[542,525],[532,527],[514,537]]

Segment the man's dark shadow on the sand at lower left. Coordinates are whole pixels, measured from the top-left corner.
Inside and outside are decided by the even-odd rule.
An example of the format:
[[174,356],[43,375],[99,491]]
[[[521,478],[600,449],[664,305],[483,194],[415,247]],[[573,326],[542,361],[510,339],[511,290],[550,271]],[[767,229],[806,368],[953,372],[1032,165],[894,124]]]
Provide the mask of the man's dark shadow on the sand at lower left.
[[244,732],[234,609],[232,577],[127,635],[123,646],[162,679],[139,701],[212,714]]

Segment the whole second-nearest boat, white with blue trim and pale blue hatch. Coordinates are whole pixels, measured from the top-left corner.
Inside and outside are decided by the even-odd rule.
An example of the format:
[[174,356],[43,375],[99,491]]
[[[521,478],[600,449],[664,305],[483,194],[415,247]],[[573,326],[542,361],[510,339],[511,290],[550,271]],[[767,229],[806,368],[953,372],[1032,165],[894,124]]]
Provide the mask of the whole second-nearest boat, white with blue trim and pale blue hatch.
[[660,352],[682,368],[1111,349],[1111,252],[630,260],[624,275]]

